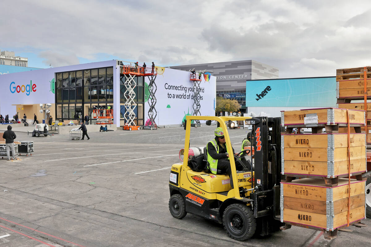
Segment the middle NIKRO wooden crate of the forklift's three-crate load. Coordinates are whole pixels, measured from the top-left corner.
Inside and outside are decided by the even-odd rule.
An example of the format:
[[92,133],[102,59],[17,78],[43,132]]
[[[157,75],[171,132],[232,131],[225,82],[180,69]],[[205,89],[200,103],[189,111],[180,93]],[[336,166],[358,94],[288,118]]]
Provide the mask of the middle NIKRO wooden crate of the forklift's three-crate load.
[[[366,171],[365,138],[365,134],[350,135],[350,173]],[[281,135],[282,174],[328,178],[348,174],[347,147],[348,134]]]

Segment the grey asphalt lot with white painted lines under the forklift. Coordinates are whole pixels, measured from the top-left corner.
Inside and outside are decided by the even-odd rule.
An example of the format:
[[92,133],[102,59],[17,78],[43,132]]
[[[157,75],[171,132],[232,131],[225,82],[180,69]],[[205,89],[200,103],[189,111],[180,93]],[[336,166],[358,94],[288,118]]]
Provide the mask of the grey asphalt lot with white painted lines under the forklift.
[[[190,146],[205,146],[214,128],[192,128]],[[89,133],[90,140],[16,134],[35,141],[35,153],[0,159],[0,246],[370,246],[371,227],[351,226],[332,241],[292,227],[239,242],[203,218],[173,218],[168,178],[184,147],[180,127]],[[238,150],[247,130],[229,134]]]

